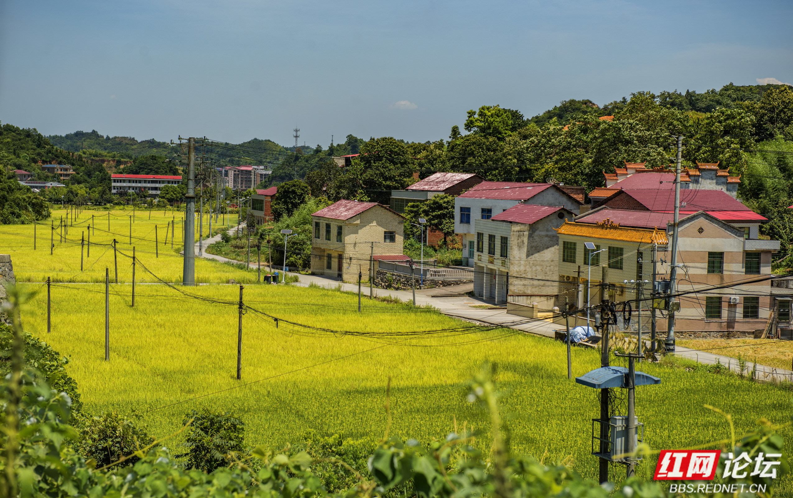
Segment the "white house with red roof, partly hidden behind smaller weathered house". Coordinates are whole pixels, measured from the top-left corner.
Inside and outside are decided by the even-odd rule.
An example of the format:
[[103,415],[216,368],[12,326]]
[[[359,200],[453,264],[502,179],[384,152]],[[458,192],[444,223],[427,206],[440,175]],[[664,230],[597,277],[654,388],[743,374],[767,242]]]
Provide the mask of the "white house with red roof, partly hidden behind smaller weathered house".
[[473,186],[454,199],[454,232],[461,238],[463,265],[474,264],[477,220],[489,220],[518,204],[558,206],[579,214],[584,200],[577,197],[552,183],[481,182]]

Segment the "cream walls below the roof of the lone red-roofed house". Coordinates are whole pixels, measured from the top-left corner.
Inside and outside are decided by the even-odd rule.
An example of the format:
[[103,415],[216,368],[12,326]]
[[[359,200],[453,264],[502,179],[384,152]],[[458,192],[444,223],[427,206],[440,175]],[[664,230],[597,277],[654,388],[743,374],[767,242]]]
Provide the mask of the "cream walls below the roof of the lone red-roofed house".
[[[339,255],[343,257],[341,268],[345,282],[358,282],[358,270],[363,279],[369,279],[370,255],[401,255],[404,242],[404,218],[389,209],[374,206],[349,220],[335,220],[312,216],[320,222],[320,238],[312,238],[311,268],[316,274],[336,277],[339,273]],[[325,240],[325,224],[331,224],[331,240]],[[336,227],[341,225],[343,242],[336,242]],[[383,242],[384,232],[396,232],[394,243]],[[327,269],[327,257],[331,255],[331,270]]]

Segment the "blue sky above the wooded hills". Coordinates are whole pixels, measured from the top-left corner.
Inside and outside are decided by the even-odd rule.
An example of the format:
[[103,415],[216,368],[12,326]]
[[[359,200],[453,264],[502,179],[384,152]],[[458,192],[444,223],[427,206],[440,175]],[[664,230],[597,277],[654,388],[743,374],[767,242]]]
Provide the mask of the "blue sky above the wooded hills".
[[793,83],[793,2],[0,1],[0,121],[45,135],[447,138],[465,111]]

